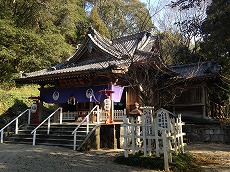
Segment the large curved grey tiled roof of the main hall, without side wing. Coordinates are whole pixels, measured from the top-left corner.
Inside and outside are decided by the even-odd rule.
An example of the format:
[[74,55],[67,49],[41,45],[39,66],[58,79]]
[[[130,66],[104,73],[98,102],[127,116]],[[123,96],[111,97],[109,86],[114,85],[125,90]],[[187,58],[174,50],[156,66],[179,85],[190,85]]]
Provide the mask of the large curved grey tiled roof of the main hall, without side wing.
[[[90,28],[85,42],[69,59],[49,69],[25,73],[20,79],[72,72],[96,71],[106,69],[111,65],[122,65],[130,62],[129,58],[132,58],[132,62],[151,58],[152,53],[150,53],[150,51],[156,39],[156,35],[153,35],[151,31],[143,31],[137,34],[108,40],[101,36],[96,30]],[[89,44],[92,44],[95,49],[99,49],[104,52],[104,54],[107,54],[107,56],[82,59],[79,61],[82,53],[88,51],[87,46],[89,46]],[[159,57],[156,58],[156,61],[158,61],[157,63],[161,63]]]

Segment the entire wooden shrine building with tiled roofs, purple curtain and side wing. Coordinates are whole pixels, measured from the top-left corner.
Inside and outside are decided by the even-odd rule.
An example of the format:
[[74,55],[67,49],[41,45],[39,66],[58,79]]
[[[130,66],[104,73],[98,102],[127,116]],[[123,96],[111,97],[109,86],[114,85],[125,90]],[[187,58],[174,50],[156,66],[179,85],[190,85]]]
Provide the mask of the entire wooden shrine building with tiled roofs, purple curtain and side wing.
[[[159,83],[171,84],[175,80],[178,81],[175,85],[171,84],[170,88],[158,90],[150,97],[161,105],[158,108],[166,108],[174,114],[181,113],[182,118],[185,115],[199,118],[208,116],[207,87],[208,83],[217,80],[220,66],[214,61],[165,66],[159,53],[158,37],[152,30],[108,40],[90,27],[85,41],[70,58],[48,69],[23,73],[15,82],[40,85],[40,95],[35,95],[37,98],[32,97],[38,107],[34,112],[38,116],[36,123],[41,125],[48,121],[48,126],[50,125],[50,116],[44,113],[43,103],[54,104],[57,110],[60,110],[60,115],[54,115],[54,122],[83,124],[87,121],[86,133],[89,133],[89,122],[96,122],[101,126],[100,134],[95,136],[100,136],[101,144],[96,147],[110,145],[110,148],[115,148],[115,145],[120,147],[122,144],[119,140],[122,140],[123,117],[137,115],[135,111],[141,115],[140,110],[135,110],[136,103],[140,106],[153,106],[142,102],[141,89],[137,89],[141,85],[130,84],[126,80],[126,76],[137,79],[146,77],[139,70],[146,63],[150,66],[149,74],[152,77],[161,74]],[[137,69],[134,73],[133,68]],[[162,97],[166,96],[164,98],[168,99],[165,92],[173,93],[176,88],[182,88],[180,94],[167,104],[162,104]],[[36,129],[31,132],[34,134],[33,145]],[[74,149],[78,129],[79,127],[72,133]],[[86,135],[84,140],[87,139]]]

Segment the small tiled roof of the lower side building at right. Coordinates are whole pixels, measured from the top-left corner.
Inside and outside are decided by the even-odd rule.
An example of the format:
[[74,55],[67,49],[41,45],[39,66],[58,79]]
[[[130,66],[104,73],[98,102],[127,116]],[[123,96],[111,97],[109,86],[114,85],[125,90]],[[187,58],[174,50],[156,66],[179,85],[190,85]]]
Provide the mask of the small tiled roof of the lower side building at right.
[[214,76],[220,72],[220,65],[214,61],[176,65],[169,67],[181,78],[197,78]]

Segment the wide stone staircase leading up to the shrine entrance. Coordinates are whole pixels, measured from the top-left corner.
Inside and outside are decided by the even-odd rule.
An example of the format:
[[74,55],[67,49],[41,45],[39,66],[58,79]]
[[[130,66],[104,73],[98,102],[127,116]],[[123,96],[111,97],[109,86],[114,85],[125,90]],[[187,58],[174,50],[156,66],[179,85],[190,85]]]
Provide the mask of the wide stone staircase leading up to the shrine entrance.
[[[33,131],[37,125],[24,125],[19,128],[18,134],[12,134],[5,138],[4,143],[14,144],[33,144]],[[74,135],[73,130],[77,124],[51,124],[50,134],[47,134],[47,125],[42,125],[36,134],[36,145],[61,146],[73,149]],[[89,133],[95,129],[96,124],[89,125]],[[77,148],[87,137],[86,125],[80,126],[77,131]]]

